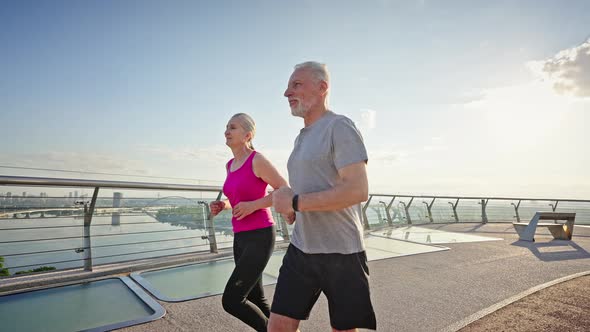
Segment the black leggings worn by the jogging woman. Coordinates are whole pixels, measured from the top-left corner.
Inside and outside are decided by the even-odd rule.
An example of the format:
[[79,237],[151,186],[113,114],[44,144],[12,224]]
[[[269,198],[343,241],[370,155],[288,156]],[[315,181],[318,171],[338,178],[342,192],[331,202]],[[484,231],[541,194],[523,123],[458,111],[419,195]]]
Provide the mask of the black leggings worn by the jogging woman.
[[266,331],[270,316],[262,288],[262,271],[274,245],[274,226],[234,235],[236,268],[227,281],[221,302],[225,311],[256,331]]

